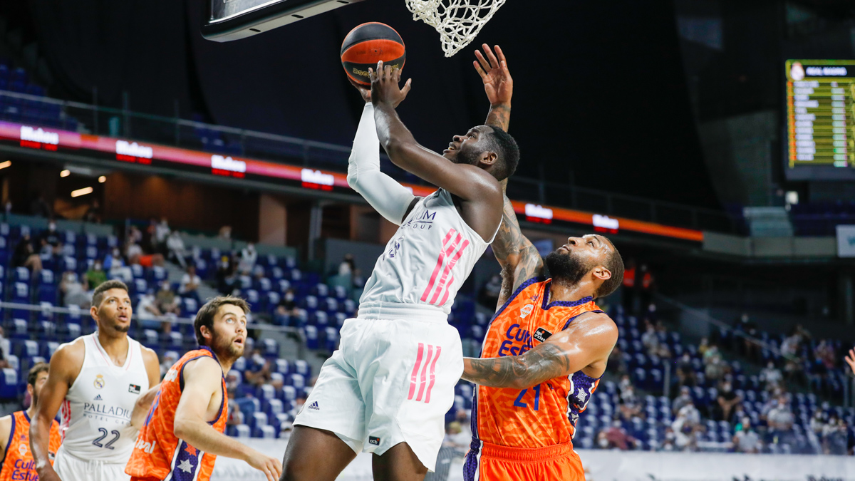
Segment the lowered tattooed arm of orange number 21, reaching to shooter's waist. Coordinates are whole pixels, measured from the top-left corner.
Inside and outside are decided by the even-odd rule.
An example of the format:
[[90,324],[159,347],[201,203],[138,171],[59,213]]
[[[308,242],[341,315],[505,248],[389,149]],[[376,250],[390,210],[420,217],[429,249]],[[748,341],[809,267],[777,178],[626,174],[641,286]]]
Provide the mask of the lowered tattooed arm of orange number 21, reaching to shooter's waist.
[[615,323],[605,314],[592,312],[522,355],[463,358],[463,379],[491,388],[528,389],[585,368],[589,376],[599,377],[616,341]]

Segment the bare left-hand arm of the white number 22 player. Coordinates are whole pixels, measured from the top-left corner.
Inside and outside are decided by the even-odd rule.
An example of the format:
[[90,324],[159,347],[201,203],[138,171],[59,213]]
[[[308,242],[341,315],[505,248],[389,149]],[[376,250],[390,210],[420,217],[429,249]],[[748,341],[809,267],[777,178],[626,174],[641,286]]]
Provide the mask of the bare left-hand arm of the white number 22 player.
[[59,477],[50,465],[50,425],[65,401],[68,388],[83,367],[85,348],[82,341],[65,344],[50,357],[48,379],[38,396],[36,413],[30,420],[30,449],[36,464],[38,478],[58,481]]

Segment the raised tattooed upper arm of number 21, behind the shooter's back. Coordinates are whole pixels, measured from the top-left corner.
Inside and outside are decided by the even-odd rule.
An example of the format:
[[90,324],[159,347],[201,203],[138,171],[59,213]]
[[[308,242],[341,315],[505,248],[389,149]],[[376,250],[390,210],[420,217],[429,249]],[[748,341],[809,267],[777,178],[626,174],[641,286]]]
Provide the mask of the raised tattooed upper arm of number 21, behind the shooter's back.
[[[508,180],[501,181],[503,190]],[[504,196],[502,225],[498,227],[496,239],[492,241],[492,253],[502,266],[502,290],[498,295],[498,306],[504,306],[510,294],[520,287],[522,282],[543,274],[543,258],[540,252],[525,235],[522,235],[520,223],[516,220],[514,206],[508,196]]]

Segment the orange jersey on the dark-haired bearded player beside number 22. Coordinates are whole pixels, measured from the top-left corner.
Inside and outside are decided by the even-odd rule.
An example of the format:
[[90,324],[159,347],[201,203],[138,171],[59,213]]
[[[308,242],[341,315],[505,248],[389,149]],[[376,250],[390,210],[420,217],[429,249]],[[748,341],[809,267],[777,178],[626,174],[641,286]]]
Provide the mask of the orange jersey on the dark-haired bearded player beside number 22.
[[[216,359],[209,347],[199,347],[184,354],[163,377],[145,424],[139,430],[131,459],[127,461],[125,472],[132,479],[208,481],[210,478],[216,456],[193,448],[174,434],[175,408],[184,389],[184,366],[203,357]],[[228,396],[226,377],[223,377],[220,415],[210,424],[215,430],[224,432],[227,418]]]

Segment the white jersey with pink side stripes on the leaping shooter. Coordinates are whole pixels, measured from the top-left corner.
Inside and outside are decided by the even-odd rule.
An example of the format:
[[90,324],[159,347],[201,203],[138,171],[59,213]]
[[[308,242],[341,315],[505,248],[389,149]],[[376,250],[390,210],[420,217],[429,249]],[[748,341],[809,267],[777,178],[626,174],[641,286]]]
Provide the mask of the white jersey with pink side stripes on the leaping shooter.
[[416,306],[447,317],[457,289],[490,242],[463,221],[451,193],[439,189],[428,195],[416,203],[374,264],[359,315],[386,317],[384,312]]

